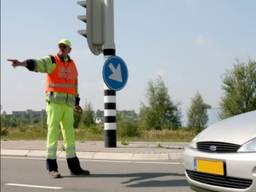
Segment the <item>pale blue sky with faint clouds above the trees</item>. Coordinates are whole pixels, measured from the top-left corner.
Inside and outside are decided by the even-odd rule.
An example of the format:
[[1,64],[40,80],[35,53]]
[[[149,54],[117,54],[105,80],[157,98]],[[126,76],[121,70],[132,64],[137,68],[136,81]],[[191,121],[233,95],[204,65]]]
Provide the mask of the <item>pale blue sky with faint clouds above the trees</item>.
[[[147,103],[149,81],[159,76],[186,116],[198,91],[219,107],[222,79],[236,59],[256,59],[255,0],[115,0],[116,53],[129,79],[117,92],[118,110]],[[45,108],[45,74],[13,69],[6,60],[42,58],[72,41],[81,105],[103,109],[103,55],[93,55],[77,33],[85,9],[73,0],[1,0],[1,105],[10,113]]]

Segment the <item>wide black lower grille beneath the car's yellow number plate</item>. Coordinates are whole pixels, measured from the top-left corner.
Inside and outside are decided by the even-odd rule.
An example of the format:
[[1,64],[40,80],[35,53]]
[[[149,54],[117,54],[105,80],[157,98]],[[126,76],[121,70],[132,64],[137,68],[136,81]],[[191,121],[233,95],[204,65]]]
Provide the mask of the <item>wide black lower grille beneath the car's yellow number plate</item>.
[[245,189],[250,187],[252,184],[252,180],[250,179],[212,175],[189,170],[186,170],[186,173],[192,180],[220,187]]

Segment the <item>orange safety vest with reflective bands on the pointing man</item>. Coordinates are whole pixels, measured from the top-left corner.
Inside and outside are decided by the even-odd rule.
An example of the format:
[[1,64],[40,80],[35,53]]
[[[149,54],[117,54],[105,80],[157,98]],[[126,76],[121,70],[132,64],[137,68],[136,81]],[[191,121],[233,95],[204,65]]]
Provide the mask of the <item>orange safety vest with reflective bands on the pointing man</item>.
[[72,95],[77,94],[77,69],[73,60],[64,62],[54,56],[56,67],[51,74],[47,75],[46,92],[61,92]]

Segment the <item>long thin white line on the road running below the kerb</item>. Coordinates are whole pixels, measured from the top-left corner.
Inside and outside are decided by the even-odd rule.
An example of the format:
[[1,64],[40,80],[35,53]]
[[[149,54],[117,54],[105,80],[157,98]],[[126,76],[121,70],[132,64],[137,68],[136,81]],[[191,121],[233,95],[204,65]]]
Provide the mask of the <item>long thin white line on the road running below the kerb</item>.
[[[41,157],[8,157],[2,156],[1,159],[22,159],[22,160],[45,160]],[[162,164],[162,165],[183,165],[183,162],[174,162],[174,161],[128,161],[128,160],[96,160],[96,159],[79,159],[80,162],[99,162],[99,163],[137,163],[137,164]],[[66,159],[59,158],[58,161],[66,161]]]

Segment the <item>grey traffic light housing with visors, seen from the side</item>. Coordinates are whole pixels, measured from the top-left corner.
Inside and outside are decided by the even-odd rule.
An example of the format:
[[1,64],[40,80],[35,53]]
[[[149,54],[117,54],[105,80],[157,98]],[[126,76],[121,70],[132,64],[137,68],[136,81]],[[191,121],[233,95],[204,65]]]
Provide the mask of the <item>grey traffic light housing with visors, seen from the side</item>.
[[78,19],[87,24],[86,30],[79,30],[78,33],[87,38],[92,53],[99,55],[102,53],[104,44],[104,0],[84,0],[79,1],[78,4],[86,8],[86,15],[78,16]]

